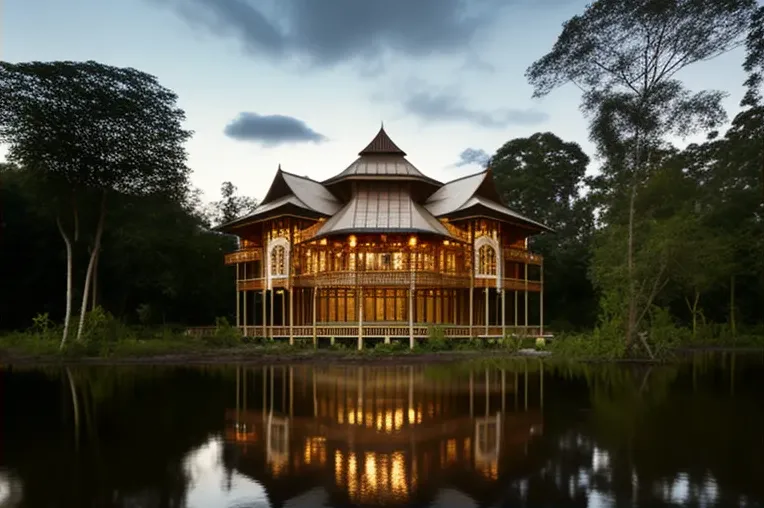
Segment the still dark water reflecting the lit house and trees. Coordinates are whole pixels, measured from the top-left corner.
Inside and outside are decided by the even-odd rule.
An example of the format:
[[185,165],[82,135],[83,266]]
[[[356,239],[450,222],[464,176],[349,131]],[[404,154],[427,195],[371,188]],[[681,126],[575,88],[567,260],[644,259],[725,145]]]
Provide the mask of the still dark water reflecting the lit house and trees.
[[6,367],[0,507],[764,506],[764,358]]

